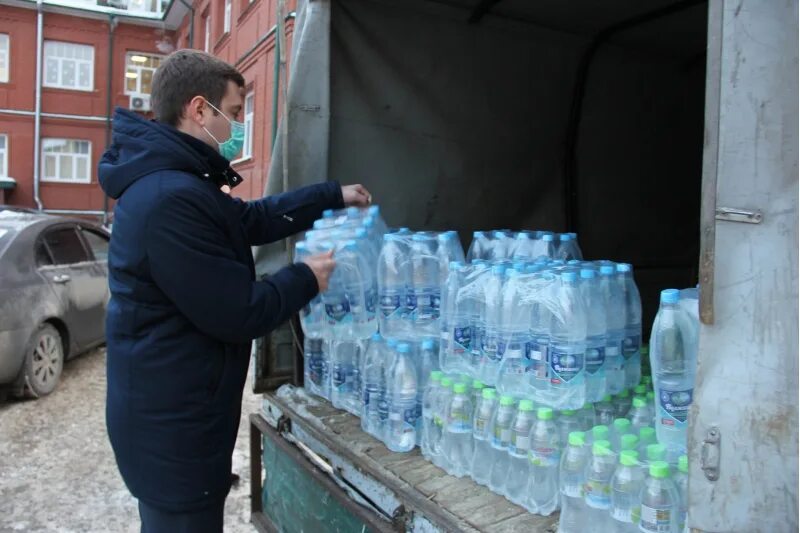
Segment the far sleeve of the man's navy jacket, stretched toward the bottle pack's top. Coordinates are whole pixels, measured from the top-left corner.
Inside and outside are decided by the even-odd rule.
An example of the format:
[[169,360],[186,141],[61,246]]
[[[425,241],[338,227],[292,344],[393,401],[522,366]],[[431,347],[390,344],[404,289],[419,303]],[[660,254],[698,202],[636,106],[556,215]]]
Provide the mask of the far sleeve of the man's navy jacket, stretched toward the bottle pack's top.
[[311,228],[326,209],[344,207],[342,187],[327,181],[295,191],[244,202],[233,199],[251,246],[285,239]]

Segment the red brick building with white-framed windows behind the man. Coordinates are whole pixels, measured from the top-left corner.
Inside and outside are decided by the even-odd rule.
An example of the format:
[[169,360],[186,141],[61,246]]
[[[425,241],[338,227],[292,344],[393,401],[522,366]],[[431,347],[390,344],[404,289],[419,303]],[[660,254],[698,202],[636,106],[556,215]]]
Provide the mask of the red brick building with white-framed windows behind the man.
[[[293,8],[287,1],[289,36]],[[148,115],[155,68],[171,51],[190,47],[235,65],[247,81],[245,149],[234,162],[246,181],[235,194],[261,196],[277,94],[277,17],[277,0],[45,0],[41,14],[30,0],[4,3],[0,204],[102,216],[97,163],[109,138],[109,110],[121,106]]]

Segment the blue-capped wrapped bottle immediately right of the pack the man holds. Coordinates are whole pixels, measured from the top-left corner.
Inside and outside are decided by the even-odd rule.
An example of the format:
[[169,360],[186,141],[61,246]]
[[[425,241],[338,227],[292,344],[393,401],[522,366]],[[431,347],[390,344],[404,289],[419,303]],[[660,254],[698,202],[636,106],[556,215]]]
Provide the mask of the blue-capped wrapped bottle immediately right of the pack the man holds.
[[396,233],[384,235],[378,256],[378,322],[384,337],[400,337],[406,331],[409,269],[406,238]]

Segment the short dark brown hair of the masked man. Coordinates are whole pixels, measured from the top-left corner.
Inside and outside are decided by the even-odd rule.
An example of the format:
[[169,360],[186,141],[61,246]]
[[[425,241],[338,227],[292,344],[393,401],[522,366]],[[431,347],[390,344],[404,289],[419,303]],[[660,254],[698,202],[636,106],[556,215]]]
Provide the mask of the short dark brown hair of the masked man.
[[221,59],[199,50],[178,50],[153,75],[152,106],[156,120],[177,126],[183,118],[183,108],[195,96],[220,107],[229,81],[244,87],[244,77]]

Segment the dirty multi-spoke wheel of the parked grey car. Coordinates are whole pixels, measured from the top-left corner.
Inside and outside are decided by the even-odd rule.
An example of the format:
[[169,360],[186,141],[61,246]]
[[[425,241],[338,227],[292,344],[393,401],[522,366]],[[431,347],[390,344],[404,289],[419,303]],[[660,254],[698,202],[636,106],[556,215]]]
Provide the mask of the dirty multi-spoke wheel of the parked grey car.
[[25,354],[25,392],[34,398],[47,396],[58,385],[63,369],[61,335],[50,324],[42,324]]

